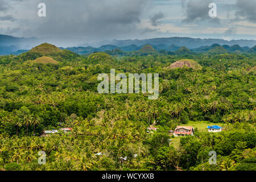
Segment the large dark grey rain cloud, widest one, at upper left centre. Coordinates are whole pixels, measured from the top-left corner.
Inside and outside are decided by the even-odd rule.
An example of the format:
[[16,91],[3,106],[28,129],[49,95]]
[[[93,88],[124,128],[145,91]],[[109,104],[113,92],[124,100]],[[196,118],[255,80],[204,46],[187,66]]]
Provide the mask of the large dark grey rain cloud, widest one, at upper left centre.
[[[147,0],[46,0],[47,17],[39,18],[39,36],[113,38],[137,31]],[[35,35],[35,36],[38,36]]]

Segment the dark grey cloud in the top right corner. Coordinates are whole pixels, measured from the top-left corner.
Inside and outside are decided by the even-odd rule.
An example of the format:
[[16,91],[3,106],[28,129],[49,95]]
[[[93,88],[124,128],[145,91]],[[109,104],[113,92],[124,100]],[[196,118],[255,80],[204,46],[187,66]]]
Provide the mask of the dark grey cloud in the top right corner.
[[237,18],[245,18],[250,22],[256,22],[256,0],[237,0],[236,10]]

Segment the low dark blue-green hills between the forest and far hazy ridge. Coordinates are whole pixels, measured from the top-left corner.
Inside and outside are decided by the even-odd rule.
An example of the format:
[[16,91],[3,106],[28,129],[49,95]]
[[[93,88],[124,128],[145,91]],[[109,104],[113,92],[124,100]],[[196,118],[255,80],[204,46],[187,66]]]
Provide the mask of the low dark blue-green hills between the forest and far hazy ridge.
[[[4,51],[11,51],[16,49],[15,46],[10,46],[11,49],[6,50],[1,49],[0,47],[0,55],[7,55],[10,53],[5,53],[3,54],[2,52]],[[78,53],[80,55],[85,55],[85,54],[90,54],[93,52],[107,52],[110,55],[127,55],[127,52],[134,52],[134,53],[141,53],[141,54],[156,54],[156,53],[170,53],[174,55],[188,55],[188,54],[195,54],[195,53],[210,53],[210,54],[221,54],[221,53],[256,53],[256,46],[254,47],[240,47],[239,45],[234,45],[234,46],[228,46],[224,45],[221,46],[220,44],[212,44],[212,46],[202,46],[198,47],[195,49],[188,49],[187,47],[179,47],[176,45],[171,45],[171,46],[164,46],[164,44],[159,44],[159,45],[149,45],[146,44],[144,46],[136,46],[136,45],[130,45],[130,46],[125,46],[125,47],[118,47],[118,46],[113,46],[113,45],[105,45],[101,46],[99,48],[95,47],[68,47],[68,48],[63,48],[60,47],[60,49],[67,49],[69,51]],[[2,52],[1,52],[2,51]],[[23,52],[28,52],[29,50],[27,49],[22,49],[18,50],[15,52],[11,52],[13,55],[20,55]],[[129,54],[129,53],[128,53]]]

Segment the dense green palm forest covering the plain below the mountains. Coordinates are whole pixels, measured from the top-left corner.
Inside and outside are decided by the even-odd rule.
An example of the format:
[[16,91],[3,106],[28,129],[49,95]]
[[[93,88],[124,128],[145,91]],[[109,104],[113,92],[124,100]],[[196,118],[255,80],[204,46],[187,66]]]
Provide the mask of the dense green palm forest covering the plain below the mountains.
[[[42,56],[57,63],[33,62]],[[182,59],[202,68],[170,68]],[[255,63],[253,53],[0,56],[0,170],[255,170]],[[110,69],[159,73],[159,98],[99,94],[97,76]],[[195,128],[177,146],[170,142],[169,130],[191,122],[224,130]],[[147,133],[152,123],[158,130]],[[72,132],[40,137],[63,127]],[[38,164],[39,151],[46,165]]]

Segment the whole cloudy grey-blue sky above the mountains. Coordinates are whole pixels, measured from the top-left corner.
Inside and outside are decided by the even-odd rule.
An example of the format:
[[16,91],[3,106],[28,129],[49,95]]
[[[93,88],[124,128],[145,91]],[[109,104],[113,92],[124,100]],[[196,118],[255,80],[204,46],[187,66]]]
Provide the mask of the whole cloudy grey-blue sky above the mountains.
[[[38,16],[39,3],[46,17]],[[173,36],[256,40],[256,0],[0,0],[0,34],[62,46]]]

